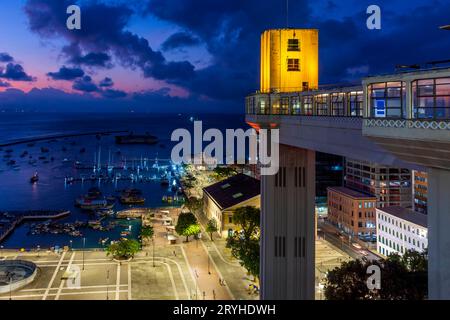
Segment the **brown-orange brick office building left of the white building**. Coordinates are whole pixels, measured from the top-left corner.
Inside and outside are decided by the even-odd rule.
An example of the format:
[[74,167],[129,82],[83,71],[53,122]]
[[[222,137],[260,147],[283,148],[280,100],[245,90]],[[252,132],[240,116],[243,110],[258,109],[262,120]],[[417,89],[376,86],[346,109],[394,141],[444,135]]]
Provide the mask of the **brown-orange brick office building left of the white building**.
[[328,188],[328,221],[351,237],[376,241],[374,196],[346,187]]

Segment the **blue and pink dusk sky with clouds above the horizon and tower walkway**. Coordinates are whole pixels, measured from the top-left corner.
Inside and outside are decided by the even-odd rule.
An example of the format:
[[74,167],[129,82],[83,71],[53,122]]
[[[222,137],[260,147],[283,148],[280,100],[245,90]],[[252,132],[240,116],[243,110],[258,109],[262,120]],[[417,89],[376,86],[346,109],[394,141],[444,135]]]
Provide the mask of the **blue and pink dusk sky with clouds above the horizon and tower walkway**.
[[[407,4],[405,4],[407,3]],[[81,7],[81,30],[66,8]],[[381,7],[381,30],[366,8]],[[319,29],[321,84],[450,59],[448,0],[290,0]],[[241,112],[258,89],[263,30],[280,0],[0,0],[0,109]]]

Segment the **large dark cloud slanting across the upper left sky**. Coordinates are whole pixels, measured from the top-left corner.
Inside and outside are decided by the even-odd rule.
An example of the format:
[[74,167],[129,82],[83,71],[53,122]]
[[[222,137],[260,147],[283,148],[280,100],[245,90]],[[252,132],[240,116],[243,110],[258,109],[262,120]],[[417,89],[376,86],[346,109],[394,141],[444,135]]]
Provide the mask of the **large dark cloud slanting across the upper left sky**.
[[145,38],[126,30],[133,15],[132,8],[127,4],[84,2],[81,30],[68,30],[65,12],[70,4],[73,4],[73,0],[28,0],[25,5],[32,31],[42,37],[64,37],[70,41],[63,51],[69,56],[69,61],[76,62],[83,57],[82,60],[98,62],[98,55],[96,59],[93,59],[93,55],[87,59],[81,56],[81,52],[103,52],[114,54],[122,65],[139,67],[145,76],[158,80],[175,80],[175,70],[181,70],[183,77],[191,75],[189,70],[193,70],[193,67],[187,66],[189,62],[166,61],[161,52],[154,51]]

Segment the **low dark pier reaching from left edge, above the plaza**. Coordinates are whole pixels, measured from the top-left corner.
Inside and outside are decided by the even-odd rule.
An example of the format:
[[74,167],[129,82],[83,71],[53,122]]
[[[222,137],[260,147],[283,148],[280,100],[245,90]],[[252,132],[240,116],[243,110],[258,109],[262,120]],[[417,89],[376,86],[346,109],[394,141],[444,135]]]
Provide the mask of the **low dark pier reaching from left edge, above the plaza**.
[[[2,211],[0,215],[0,225],[3,224],[3,228],[0,229],[0,243],[10,235],[14,229],[26,220],[47,220],[47,219],[59,219],[66,217],[70,214],[70,211],[52,211],[52,210],[31,210],[31,211]],[[8,219],[9,218],[9,219]],[[2,223],[3,220],[8,220],[6,223]]]

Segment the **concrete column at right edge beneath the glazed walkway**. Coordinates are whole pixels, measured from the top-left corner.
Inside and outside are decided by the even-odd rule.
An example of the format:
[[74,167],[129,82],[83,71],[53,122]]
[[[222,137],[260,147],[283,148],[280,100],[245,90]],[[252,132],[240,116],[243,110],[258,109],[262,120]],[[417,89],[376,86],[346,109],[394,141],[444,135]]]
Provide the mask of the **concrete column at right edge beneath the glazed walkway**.
[[450,299],[450,171],[428,171],[428,296]]

